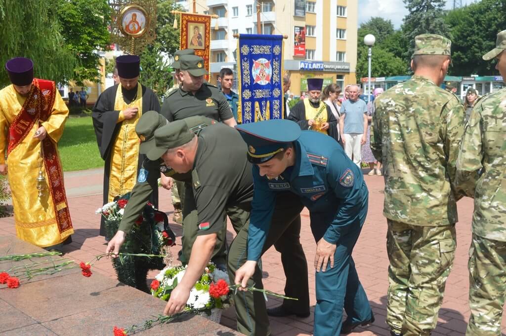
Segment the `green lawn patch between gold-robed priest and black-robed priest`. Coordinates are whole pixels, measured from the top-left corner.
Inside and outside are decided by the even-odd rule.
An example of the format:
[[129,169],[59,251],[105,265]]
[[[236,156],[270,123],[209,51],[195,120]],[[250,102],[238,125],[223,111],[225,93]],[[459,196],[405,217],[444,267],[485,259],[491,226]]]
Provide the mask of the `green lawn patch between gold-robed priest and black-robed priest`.
[[58,142],[63,171],[104,166],[97,146],[92,117],[71,117]]

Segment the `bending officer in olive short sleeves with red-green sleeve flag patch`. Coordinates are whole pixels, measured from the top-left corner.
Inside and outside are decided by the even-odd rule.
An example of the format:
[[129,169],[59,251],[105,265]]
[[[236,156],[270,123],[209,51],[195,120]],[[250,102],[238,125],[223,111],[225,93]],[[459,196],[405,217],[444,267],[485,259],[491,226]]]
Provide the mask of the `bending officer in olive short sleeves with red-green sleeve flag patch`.
[[[223,214],[229,216],[236,232],[246,232],[249,223],[249,210],[253,196],[251,164],[244,152],[246,145],[239,132],[232,127],[217,123],[200,131],[196,136],[190,131],[188,120],[177,120],[155,131],[155,144],[147,152],[150,160],[162,158],[167,166],[179,173],[191,172],[193,202],[188,197],[185,208],[193,206],[198,220],[187,223],[184,228],[193,226],[195,241],[185,275],[171,294],[164,313],[172,315],[180,312],[189,297],[190,290],[201,276],[205,266],[217,245],[217,233],[226,229]],[[297,126],[297,125],[296,125]],[[298,127],[298,126],[297,126]],[[231,164],[233,163],[233,164]],[[282,195],[272,220],[276,222],[272,242],[264,251],[276,242],[275,248],[281,252],[282,259],[291,259],[293,264],[284,267],[293,279],[290,288],[285,288],[288,296],[299,298],[292,301],[291,311],[309,315],[309,290],[307,263],[300,244],[300,221],[297,221],[303,208],[302,203],[292,194]],[[128,208],[128,207],[127,207]],[[185,216],[186,217],[186,216]],[[240,236],[234,239],[229,258],[238,260],[241,251],[246,249],[246,239]],[[262,247],[260,248],[262,249]],[[230,263],[229,263],[230,264]],[[262,272],[256,269],[256,286],[262,287]],[[246,335],[270,335],[269,318],[264,297],[261,293],[239,293],[234,298],[237,324],[240,332]]]

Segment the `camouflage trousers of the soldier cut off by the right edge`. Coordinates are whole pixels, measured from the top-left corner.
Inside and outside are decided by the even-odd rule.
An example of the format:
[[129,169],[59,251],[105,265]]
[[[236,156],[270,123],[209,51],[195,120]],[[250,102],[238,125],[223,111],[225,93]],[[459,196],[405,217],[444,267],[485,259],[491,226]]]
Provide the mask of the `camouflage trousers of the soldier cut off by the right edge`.
[[467,336],[500,336],[506,297],[506,242],[473,234],[469,249]]

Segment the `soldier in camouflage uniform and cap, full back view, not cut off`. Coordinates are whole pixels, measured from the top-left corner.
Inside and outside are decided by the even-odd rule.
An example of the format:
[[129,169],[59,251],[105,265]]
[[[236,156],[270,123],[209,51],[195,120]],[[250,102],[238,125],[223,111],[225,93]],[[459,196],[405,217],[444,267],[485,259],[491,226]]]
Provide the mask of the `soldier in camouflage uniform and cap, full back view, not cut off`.
[[431,333],[453,264],[455,162],[465,114],[455,95],[439,87],[450,46],[443,36],[416,36],[413,77],[374,101],[370,143],[385,170],[392,335]]

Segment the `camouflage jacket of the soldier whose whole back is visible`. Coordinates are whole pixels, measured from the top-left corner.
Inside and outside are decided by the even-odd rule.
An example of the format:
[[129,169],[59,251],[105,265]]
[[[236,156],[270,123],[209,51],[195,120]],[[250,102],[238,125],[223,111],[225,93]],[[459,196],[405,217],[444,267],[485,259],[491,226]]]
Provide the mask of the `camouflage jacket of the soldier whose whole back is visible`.
[[457,222],[455,163],[465,113],[455,95],[413,76],[374,100],[371,150],[384,166],[385,217],[420,226]]

